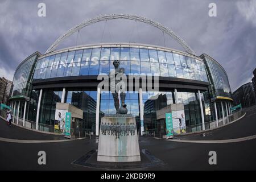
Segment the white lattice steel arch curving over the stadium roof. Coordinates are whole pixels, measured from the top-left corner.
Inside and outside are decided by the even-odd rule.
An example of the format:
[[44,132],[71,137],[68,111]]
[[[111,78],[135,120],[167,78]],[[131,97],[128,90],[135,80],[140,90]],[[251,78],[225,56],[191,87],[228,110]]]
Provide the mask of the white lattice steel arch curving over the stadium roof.
[[159,30],[163,31],[167,35],[170,35],[174,40],[176,40],[177,43],[179,43],[187,53],[191,53],[192,55],[196,55],[195,51],[191,47],[185,43],[183,39],[181,39],[178,35],[175,34],[174,31],[172,31],[170,28],[167,28],[163,26],[162,24],[155,22],[154,20],[144,18],[142,16],[138,15],[130,15],[130,14],[110,14],[110,15],[100,15],[96,16],[93,19],[85,20],[84,22],[78,24],[77,26],[69,29],[65,34],[61,35],[55,42],[47,49],[46,53],[55,51],[55,48],[60,44],[61,41],[63,41],[68,36],[72,35],[73,33],[81,30],[81,28],[84,28],[86,26],[89,26],[90,24],[101,22],[104,20],[111,20],[111,19],[129,19],[134,20],[142,23],[149,24],[153,27],[158,28]]

